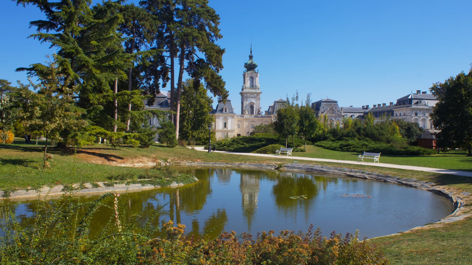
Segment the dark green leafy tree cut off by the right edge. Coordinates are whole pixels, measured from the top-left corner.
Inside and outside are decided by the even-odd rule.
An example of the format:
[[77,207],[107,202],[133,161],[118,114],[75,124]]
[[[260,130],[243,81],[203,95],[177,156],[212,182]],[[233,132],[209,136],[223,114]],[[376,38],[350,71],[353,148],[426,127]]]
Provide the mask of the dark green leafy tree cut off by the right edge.
[[431,93],[439,100],[431,118],[437,133],[438,146],[467,149],[472,156],[472,69],[436,83]]

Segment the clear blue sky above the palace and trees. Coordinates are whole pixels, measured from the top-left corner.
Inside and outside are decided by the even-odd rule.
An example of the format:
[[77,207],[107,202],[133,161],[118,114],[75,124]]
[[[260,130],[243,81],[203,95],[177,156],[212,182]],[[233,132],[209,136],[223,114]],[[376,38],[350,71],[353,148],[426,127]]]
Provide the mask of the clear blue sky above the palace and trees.
[[[300,99],[312,93],[312,101],[338,100],[340,107],[395,102],[472,63],[470,0],[210,0],[210,6],[221,18],[220,74],[238,114],[251,39],[263,110],[295,91]],[[15,69],[52,53],[48,44],[27,39],[34,33],[29,21],[42,14],[9,0],[0,10],[0,79],[25,83]]]

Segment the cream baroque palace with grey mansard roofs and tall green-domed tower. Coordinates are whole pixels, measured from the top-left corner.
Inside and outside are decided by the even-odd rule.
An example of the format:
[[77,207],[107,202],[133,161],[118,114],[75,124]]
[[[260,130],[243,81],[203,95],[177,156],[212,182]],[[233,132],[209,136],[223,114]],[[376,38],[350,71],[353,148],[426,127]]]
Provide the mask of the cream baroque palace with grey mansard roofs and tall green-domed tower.
[[[212,129],[215,130],[216,138],[237,137],[249,135],[254,130],[254,126],[260,124],[270,124],[277,116],[277,110],[287,101],[277,99],[267,110],[262,111],[261,107],[261,86],[259,85],[259,71],[256,71],[257,63],[253,60],[253,49],[251,47],[249,60],[244,63],[243,85],[241,87],[241,114],[234,112],[231,100],[226,103],[219,101],[211,111],[215,116]],[[152,105],[146,105],[146,109],[170,110],[170,94],[160,93],[156,96]],[[416,122],[427,132],[436,132],[433,128],[430,113],[436,105],[438,99],[426,91],[417,90],[416,93],[401,97],[396,103],[389,102],[382,104],[364,105],[362,107],[339,107],[336,100],[321,99],[312,103],[316,116],[327,116],[331,125],[342,126],[342,118],[363,118],[372,114],[375,121],[380,121],[385,117],[404,119],[409,122]],[[145,104],[147,102],[145,101]],[[152,126],[159,126],[157,120],[150,120]]]

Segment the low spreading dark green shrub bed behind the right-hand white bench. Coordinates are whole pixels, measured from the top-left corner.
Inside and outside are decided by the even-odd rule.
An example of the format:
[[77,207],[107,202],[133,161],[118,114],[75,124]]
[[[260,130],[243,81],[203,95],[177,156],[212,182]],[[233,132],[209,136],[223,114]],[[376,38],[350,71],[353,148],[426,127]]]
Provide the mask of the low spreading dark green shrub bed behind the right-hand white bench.
[[394,143],[376,142],[370,139],[353,140],[343,139],[338,141],[319,141],[314,145],[336,151],[345,152],[376,152],[389,155],[434,155],[435,149],[425,149],[419,146],[402,146],[398,148]]

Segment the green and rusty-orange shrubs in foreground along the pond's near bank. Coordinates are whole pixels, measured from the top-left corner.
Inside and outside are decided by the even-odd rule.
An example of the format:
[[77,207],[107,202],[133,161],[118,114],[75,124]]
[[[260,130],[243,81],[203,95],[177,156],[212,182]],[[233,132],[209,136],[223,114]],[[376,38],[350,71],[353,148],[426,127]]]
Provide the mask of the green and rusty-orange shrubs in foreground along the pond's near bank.
[[[190,238],[185,225],[164,224],[161,235],[154,225],[159,210],[151,207],[139,214],[125,214],[127,202],[107,193],[87,203],[64,196],[41,202],[34,221],[20,223],[16,207],[0,208],[0,257],[2,263],[28,264],[386,264],[375,247],[357,240],[357,233],[331,233],[320,229],[295,233],[262,232],[255,240],[247,233],[225,232],[217,239]],[[107,224],[91,235],[89,224],[101,208],[109,208]],[[142,218],[146,216],[146,218]]]

